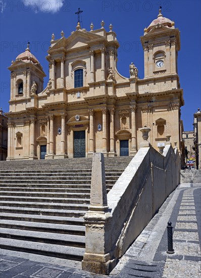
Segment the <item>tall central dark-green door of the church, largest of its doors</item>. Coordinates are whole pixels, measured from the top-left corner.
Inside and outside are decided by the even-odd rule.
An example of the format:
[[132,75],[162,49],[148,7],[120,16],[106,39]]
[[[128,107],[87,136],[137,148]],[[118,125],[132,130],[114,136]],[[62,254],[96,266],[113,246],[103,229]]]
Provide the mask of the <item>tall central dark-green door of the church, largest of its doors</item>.
[[85,130],[74,131],[74,157],[85,157]]

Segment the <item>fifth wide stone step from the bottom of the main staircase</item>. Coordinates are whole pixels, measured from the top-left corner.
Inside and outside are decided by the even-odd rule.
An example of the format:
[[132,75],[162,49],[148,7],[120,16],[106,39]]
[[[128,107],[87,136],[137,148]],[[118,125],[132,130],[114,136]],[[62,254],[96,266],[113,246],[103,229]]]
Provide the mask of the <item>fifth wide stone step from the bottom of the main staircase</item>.
[[[78,209],[50,209],[39,207],[23,207],[23,206],[8,206],[9,204],[1,206],[2,213],[22,213],[22,214],[37,214],[37,215],[51,215],[51,216],[63,216],[63,217],[83,217],[86,213],[85,208]],[[16,205],[16,204],[15,204]]]

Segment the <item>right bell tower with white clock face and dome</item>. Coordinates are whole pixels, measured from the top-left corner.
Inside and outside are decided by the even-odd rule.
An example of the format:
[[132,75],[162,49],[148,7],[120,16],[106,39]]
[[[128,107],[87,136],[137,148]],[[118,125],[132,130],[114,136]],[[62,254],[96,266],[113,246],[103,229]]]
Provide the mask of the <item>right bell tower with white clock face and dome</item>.
[[140,37],[144,49],[144,78],[177,74],[177,53],[180,50],[180,32],[174,21],[163,17],[144,28]]

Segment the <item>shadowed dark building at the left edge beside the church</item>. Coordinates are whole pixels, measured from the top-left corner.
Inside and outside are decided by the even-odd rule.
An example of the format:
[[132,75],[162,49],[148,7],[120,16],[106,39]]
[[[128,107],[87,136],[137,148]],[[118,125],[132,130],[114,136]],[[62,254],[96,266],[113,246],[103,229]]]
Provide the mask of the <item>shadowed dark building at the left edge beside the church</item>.
[[0,109],[0,160],[6,160],[8,152],[8,118]]

